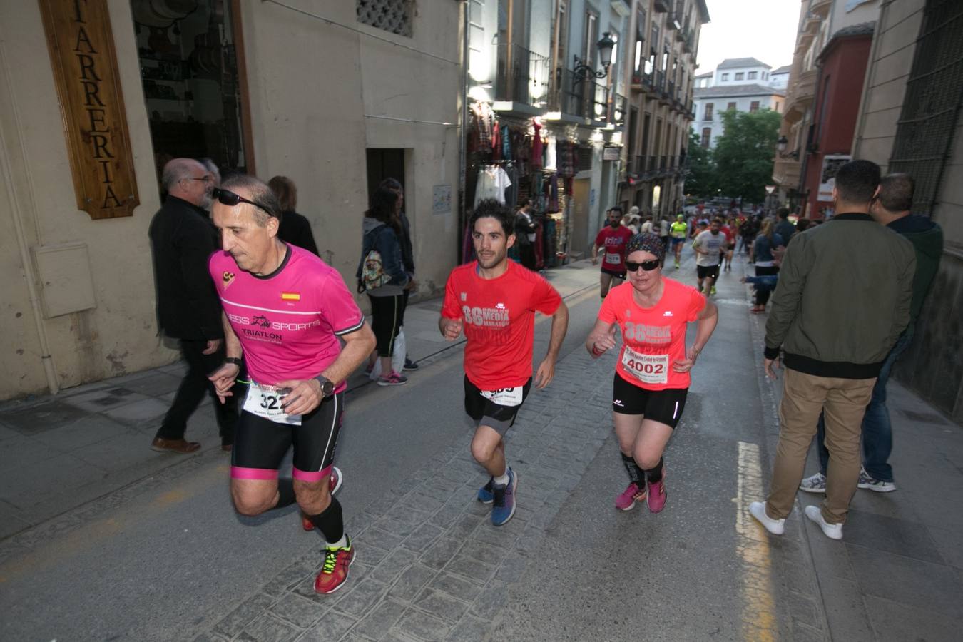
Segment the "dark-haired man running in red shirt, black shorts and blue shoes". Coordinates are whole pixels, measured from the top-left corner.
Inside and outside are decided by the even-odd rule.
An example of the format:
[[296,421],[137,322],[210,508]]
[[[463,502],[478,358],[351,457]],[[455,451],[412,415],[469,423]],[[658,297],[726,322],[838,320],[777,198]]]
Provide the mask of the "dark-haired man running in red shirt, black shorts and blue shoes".
[[448,341],[465,331],[465,412],[476,422],[472,456],[491,479],[478,492],[493,503],[491,523],[502,526],[515,513],[518,478],[508,468],[503,437],[532,387],[535,312],[552,316],[548,353],[535,373],[535,387],[555,376],[568,308],[548,281],[508,260],[515,242],[511,210],[486,199],[471,218],[478,260],[452,270],[438,328]]

